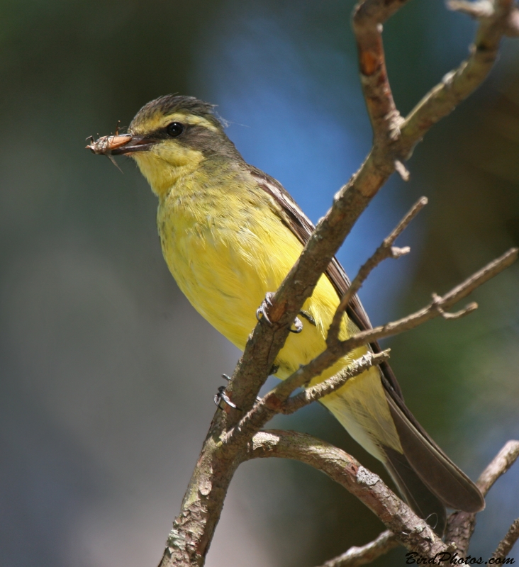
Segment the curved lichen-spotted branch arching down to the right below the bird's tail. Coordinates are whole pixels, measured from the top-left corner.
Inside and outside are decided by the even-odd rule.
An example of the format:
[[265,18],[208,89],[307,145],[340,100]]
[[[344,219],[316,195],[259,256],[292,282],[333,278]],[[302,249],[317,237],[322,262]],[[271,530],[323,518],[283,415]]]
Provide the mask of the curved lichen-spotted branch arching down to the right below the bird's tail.
[[305,433],[269,430],[255,434],[248,444],[247,457],[281,457],[313,466],[369,507],[395,534],[398,543],[410,551],[428,557],[447,551],[425,520],[403,503],[379,476],[342,449]]

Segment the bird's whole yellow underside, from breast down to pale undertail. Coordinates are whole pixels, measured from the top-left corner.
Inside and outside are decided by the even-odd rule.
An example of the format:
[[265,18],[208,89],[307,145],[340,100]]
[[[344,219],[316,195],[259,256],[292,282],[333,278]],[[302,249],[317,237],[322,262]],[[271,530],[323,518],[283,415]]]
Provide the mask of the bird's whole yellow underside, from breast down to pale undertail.
[[[157,213],[164,258],[179,288],[194,308],[236,347],[244,349],[255,327],[255,313],[268,291],[276,291],[294,265],[302,246],[254,186],[221,198],[221,188],[184,191],[162,198]],[[286,378],[325,349],[325,335],[339,303],[326,276],[321,276],[303,305],[316,321],[301,318],[303,331],[290,334],[275,364]],[[355,327],[345,318],[340,338]],[[314,382],[322,381],[362,356],[367,347],[347,355]],[[401,451],[389,414],[378,369],[354,378],[323,399],[337,419],[374,456],[374,439]]]

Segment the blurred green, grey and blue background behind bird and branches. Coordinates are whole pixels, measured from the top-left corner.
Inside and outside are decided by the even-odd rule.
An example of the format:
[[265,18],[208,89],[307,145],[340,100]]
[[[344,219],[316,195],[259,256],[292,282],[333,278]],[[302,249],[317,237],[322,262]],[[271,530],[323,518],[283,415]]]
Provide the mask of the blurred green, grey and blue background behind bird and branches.
[[[315,221],[369,150],[352,1],[4,0],[0,3],[0,549],[6,567],[155,565],[238,351],[179,293],[155,197],[84,150],[167,93],[218,104],[245,159]],[[398,107],[467,54],[475,24],[413,0],[384,31]],[[403,315],[519,244],[519,49],[420,144],[339,257],[350,274],[418,196],[413,252],[361,293]],[[519,436],[519,271],[474,293],[469,318],[387,341],[406,401],[476,477]],[[274,383],[271,379],[269,384]],[[381,467],[320,406],[275,420]],[[491,491],[471,553],[519,515],[519,465]],[[301,464],[242,466],[208,566],[311,567],[382,525]],[[403,564],[403,551],[379,566]]]

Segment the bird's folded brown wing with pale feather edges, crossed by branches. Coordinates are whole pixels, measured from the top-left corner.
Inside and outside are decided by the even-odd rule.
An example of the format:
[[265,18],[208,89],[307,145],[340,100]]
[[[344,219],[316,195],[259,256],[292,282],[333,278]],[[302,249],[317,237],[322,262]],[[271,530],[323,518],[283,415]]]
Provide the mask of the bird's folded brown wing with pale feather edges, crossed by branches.
[[[303,213],[296,201],[294,201],[290,193],[284,189],[279,181],[276,181],[276,179],[273,179],[260,169],[252,166],[249,167],[250,173],[257,180],[258,186],[268,193],[281,207],[281,221],[292,232],[294,232],[294,235],[298,237],[301,244],[305,246],[315,228],[312,221],[305,215],[305,213]],[[328,276],[328,279],[335,288],[335,291],[337,291],[337,295],[342,297],[346,293],[347,288],[350,287],[350,280],[337,258],[334,257],[332,259],[328,269],[325,271],[325,274]],[[348,317],[355,322],[355,325],[357,325],[360,330],[372,328],[372,324],[369,321],[367,313],[364,311],[364,307],[362,307],[362,303],[360,303],[357,295],[353,296],[346,312]],[[378,342],[371,343],[371,347],[374,352],[381,351]],[[385,388],[389,389],[391,393],[394,393],[397,398],[400,398],[403,401],[400,385],[396,381],[396,377],[389,364],[387,364],[387,362],[382,363],[380,365],[380,369],[382,374],[384,374],[384,378],[386,378],[383,381]]]

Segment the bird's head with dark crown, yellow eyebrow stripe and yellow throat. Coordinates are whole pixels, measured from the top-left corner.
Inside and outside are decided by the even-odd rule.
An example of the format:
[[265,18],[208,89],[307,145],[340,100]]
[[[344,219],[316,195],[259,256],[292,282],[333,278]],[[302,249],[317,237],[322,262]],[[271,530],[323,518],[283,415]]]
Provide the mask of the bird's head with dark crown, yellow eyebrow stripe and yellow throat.
[[159,196],[207,159],[242,159],[213,105],[193,96],[166,95],[145,104],[128,135],[113,138],[120,145],[108,148],[111,155],[133,157]]

